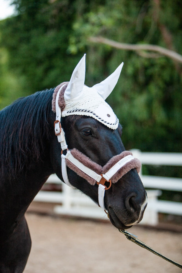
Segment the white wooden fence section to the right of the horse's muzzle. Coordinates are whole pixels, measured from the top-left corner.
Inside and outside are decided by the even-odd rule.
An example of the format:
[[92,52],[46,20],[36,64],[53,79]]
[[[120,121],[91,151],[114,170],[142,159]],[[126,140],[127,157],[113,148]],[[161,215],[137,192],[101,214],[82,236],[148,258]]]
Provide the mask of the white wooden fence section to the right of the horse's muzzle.
[[[131,152],[145,165],[182,166],[182,153],[152,153],[134,149]],[[161,190],[182,192],[182,178],[143,175],[142,169],[140,177],[145,188],[153,189],[147,190],[148,204],[142,220],[143,224],[156,225],[159,212],[182,215],[182,203],[157,199]]]

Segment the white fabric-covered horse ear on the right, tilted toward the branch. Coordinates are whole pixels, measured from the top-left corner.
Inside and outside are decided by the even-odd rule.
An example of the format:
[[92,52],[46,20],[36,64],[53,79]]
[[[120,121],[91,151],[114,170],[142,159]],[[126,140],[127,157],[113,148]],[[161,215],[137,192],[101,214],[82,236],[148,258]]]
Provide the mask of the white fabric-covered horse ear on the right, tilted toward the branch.
[[122,67],[123,67],[123,62],[120,64],[120,66],[118,66],[118,68],[116,68],[116,70],[109,77],[107,77],[101,83],[97,83],[94,86],[92,86],[93,88],[95,88],[97,90],[99,95],[104,100],[113,91],[113,89],[114,89],[114,87],[115,87],[115,85],[116,85],[116,83],[117,83],[117,81],[119,79]]

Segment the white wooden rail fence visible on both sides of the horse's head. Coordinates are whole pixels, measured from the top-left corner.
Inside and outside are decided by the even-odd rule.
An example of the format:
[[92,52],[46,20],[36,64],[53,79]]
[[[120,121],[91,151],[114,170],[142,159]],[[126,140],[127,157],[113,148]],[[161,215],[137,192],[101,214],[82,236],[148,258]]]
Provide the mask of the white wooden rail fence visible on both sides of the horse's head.
[[[140,150],[131,150],[133,156],[146,165],[182,166],[182,153],[148,153]],[[148,205],[141,224],[156,225],[158,213],[182,215],[182,203],[158,200],[161,190],[182,192],[182,178],[147,176],[140,172],[140,177],[147,188]],[[107,219],[103,209],[98,207],[89,197],[79,190],[65,185],[53,174],[46,183],[62,184],[62,192],[41,190],[34,201],[56,203],[55,213],[78,217]],[[150,189],[150,190],[148,190]]]

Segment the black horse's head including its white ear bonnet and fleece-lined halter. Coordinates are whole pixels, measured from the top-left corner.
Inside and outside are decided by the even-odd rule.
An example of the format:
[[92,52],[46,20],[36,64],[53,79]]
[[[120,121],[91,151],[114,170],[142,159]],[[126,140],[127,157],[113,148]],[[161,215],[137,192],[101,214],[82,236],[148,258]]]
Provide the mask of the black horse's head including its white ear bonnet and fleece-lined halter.
[[61,143],[58,146],[54,138],[52,164],[56,174],[108,211],[111,223],[119,229],[139,223],[147,206],[138,175],[141,164],[125,150],[122,127],[105,102],[122,67],[123,63],[89,88],[84,85],[84,55],[70,81],[57,86],[52,99],[55,133]]

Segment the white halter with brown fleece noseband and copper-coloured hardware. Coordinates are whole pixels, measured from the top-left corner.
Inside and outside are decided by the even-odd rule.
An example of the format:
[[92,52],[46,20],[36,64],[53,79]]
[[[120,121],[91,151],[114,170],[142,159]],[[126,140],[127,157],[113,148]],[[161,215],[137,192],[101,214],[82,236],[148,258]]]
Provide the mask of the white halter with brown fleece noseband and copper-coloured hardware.
[[[63,86],[62,86],[63,87]],[[111,187],[111,183],[116,183],[124,174],[129,172],[131,169],[136,168],[137,172],[140,171],[141,163],[138,159],[132,156],[129,151],[123,151],[119,155],[112,157],[104,167],[93,162],[89,157],[81,153],[76,149],[68,150],[66,144],[65,134],[61,128],[61,109],[58,104],[59,93],[62,89],[59,89],[56,95],[56,121],[54,122],[55,134],[58,141],[61,144],[62,151],[67,150],[66,155],[61,155],[61,167],[62,177],[68,186],[72,185],[69,183],[67,169],[68,166],[80,177],[86,179],[89,184],[98,184],[98,201],[99,206],[106,210],[104,206],[104,194],[105,190]],[[112,181],[111,181],[112,179]]]

